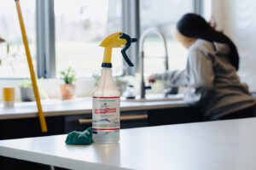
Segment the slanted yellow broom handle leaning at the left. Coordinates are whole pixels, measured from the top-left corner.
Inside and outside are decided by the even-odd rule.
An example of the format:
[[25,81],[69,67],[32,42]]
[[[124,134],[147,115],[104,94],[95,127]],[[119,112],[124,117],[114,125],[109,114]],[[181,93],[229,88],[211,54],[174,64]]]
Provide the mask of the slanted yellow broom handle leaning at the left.
[[29,66],[30,76],[31,76],[31,80],[32,80],[32,87],[33,87],[35,99],[36,99],[37,105],[38,105],[38,116],[39,116],[39,121],[40,121],[40,125],[41,125],[41,130],[43,133],[45,133],[48,130],[47,130],[44,112],[43,112],[41,101],[40,101],[40,96],[38,93],[38,85],[37,85],[36,76],[35,76],[33,65],[32,65],[32,58],[31,58],[31,54],[29,51],[28,42],[26,39],[26,30],[25,30],[25,26],[23,23],[21,10],[20,10],[20,2],[19,2],[19,0],[15,0],[15,3],[16,3],[19,20],[20,20],[20,29],[21,29],[21,33],[22,33],[23,43],[24,43],[25,50],[26,50],[26,59],[27,59],[27,63]]

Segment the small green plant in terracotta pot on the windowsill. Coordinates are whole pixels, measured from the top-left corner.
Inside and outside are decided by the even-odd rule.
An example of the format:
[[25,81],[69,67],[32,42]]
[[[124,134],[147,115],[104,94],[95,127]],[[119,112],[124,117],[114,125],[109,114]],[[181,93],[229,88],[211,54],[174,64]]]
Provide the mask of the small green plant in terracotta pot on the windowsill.
[[75,71],[69,66],[66,71],[61,71],[61,79],[65,82],[61,84],[61,99],[73,99],[75,97],[75,85],[76,81]]

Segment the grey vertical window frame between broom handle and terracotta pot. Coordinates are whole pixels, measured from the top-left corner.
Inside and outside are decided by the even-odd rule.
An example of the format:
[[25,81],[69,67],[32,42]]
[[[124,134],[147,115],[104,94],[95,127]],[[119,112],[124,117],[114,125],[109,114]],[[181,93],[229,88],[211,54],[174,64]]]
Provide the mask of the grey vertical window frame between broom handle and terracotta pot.
[[55,77],[55,14],[53,0],[36,2],[38,77]]

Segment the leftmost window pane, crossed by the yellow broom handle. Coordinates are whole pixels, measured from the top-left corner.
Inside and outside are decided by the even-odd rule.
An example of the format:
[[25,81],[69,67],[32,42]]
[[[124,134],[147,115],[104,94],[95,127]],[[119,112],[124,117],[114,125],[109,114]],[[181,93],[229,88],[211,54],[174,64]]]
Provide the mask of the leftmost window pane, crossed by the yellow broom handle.
[[[22,0],[20,8],[26,26],[32,60],[36,67],[35,1]],[[3,37],[9,44],[9,54],[7,54],[7,43],[0,44],[0,59],[3,60],[0,65],[0,77],[29,77],[15,1],[1,2],[0,23],[0,37]],[[34,69],[36,70],[36,68]]]

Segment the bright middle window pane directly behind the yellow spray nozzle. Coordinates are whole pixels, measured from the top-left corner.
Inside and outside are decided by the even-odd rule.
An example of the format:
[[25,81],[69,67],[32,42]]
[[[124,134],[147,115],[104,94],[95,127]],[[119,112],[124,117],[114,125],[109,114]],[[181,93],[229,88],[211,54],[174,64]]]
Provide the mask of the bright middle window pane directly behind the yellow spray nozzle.
[[[120,0],[55,0],[56,75],[72,66],[78,77],[99,71],[109,34],[122,31]],[[120,49],[113,48],[113,71],[122,66]],[[114,72],[113,72],[114,73]]]

